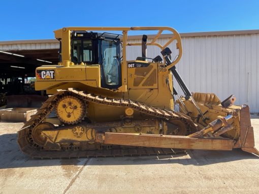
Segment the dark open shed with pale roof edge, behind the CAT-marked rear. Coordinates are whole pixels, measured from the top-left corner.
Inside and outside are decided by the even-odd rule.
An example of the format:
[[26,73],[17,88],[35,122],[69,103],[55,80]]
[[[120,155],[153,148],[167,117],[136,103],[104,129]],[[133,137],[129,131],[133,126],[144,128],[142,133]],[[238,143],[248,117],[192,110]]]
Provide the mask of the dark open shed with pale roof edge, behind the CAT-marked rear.
[[0,42],[0,92],[28,93],[25,88],[28,78],[35,77],[35,69],[58,62],[58,47],[56,40]]

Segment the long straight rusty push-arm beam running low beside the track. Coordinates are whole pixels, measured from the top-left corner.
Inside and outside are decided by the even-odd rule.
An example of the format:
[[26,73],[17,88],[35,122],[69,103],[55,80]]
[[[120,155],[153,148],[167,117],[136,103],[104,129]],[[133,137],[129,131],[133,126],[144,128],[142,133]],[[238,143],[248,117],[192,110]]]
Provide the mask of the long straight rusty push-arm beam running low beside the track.
[[231,139],[122,133],[105,133],[105,144],[201,150],[232,150],[233,148]]

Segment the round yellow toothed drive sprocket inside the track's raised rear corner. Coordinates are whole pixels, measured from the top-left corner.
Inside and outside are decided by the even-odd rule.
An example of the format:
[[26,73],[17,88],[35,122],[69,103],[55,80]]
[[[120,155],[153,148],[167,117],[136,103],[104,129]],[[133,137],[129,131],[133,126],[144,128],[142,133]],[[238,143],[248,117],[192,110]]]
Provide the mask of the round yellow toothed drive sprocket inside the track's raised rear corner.
[[77,123],[85,117],[85,102],[73,95],[63,96],[56,103],[56,114],[64,123]]

